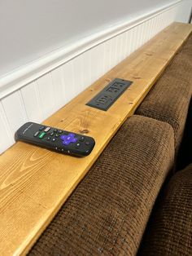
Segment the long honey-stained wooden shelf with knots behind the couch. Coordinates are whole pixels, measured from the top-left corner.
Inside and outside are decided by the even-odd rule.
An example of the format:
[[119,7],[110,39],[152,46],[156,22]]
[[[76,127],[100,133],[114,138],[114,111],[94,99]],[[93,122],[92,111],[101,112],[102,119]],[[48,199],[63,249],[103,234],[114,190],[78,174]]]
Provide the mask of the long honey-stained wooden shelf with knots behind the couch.
[[[63,156],[21,142],[2,154],[1,255],[28,252],[191,31],[191,24],[172,24],[45,121],[63,130],[87,130],[96,141],[88,157]],[[115,77],[131,80],[133,85],[107,112],[85,105]]]

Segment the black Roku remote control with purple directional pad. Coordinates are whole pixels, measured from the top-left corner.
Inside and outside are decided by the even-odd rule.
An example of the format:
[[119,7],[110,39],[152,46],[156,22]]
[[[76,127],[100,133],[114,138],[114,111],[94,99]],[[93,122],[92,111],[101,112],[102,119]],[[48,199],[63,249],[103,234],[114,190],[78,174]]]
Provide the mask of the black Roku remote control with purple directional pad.
[[89,136],[34,122],[27,122],[21,126],[15,133],[15,139],[77,157],[88,156],[95,144],[94,139]]

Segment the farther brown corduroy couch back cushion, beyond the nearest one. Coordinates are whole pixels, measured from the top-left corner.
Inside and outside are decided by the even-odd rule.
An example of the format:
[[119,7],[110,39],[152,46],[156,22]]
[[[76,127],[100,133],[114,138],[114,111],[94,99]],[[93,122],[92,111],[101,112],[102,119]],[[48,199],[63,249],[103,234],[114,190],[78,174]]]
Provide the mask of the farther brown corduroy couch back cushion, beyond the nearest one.
[[192,94],[192,35],[155,83],[136,114],[168,122],[181,143]]

